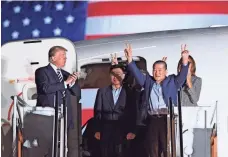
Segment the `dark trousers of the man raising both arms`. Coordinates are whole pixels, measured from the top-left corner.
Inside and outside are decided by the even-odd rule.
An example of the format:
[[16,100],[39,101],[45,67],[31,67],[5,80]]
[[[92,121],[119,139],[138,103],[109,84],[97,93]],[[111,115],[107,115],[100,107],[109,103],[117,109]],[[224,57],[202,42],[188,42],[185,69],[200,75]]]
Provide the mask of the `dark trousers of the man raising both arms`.
[[145,140],[147,157],[167,157],[167,116],[149,116]]

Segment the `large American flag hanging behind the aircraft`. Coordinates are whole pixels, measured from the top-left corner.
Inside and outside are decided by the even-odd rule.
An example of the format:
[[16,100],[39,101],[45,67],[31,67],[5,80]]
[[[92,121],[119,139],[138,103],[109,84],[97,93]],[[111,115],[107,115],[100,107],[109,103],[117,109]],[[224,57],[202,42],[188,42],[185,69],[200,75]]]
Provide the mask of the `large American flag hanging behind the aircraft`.
[[228,2],[2,1],[2,43],[228,25]]

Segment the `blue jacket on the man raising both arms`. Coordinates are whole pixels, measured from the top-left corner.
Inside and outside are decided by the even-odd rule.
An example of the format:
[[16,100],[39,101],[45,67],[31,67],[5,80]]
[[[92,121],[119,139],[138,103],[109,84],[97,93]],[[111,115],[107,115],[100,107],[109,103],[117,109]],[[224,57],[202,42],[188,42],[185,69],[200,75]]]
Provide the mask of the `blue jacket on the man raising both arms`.
[[[184,84],[187,74],[188,66],[182,65],[181,71],[178,75],[169,75],[162,82],[162,92],[165,103],[168,105],[169,98],[171,98],[174,105],[177,105],[177,91]],[[144,88],[142,92],[142,101],[140,102],[140,119],[139,121],[145,120],[148,114],[149,97],[155,83],[155,80],[149,74],[143,75],[135,65],[135,62],[128,64],[128,70],[134,75],[136,81]]]

